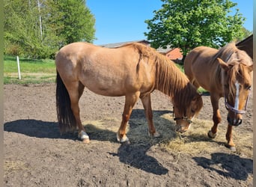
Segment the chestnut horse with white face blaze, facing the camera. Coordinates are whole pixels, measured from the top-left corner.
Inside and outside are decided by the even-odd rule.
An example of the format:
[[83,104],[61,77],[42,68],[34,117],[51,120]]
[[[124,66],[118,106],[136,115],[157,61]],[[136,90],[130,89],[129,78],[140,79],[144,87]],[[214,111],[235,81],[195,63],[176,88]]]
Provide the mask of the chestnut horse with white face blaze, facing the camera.
[[235,43],[228,43],[219,50],[206,46],[196,47],[189,52],[184,62],[184,70],[190,82],[196,88],[201,86],[210,92],[213,106],[213,127],[208,132],[210,138],[216,136],[217,126],[221,122],[219,99],[225,97],[228,109],[226,147],[231,150],[236,150],[232,127],[242,123],[242,114],[246,112],[252,85],[252,66],[252,58],[237,49]]

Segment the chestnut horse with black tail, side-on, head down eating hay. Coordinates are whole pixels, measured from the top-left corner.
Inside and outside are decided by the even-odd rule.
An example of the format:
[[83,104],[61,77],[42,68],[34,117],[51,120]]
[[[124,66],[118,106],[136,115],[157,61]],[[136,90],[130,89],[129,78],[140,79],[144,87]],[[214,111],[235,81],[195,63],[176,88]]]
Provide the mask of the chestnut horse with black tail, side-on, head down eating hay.
[[201,95],[175,64],[141,43],[115,49],[90,43],[70,43],[55,58],[57,69],[56,105],[61,132],[79,130],[79,138],[89,142],[79,116],[79,98],[84,88],[103,96],[125,96],[118,141],[129,141],[126,126],[132,107],[141,99],[149,135],[159,136],[153,126],[150,93],[155,89],[170,96],[177,131],[185,132],[192,117],[202,108]]

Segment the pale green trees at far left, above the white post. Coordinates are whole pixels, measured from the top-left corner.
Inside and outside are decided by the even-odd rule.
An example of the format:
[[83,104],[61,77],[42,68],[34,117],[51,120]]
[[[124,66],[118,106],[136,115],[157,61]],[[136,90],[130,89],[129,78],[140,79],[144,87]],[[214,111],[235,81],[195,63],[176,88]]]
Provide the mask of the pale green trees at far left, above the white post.
[[4,1],[4,50],[11,55],[34,54],[39,46],[36,1]]

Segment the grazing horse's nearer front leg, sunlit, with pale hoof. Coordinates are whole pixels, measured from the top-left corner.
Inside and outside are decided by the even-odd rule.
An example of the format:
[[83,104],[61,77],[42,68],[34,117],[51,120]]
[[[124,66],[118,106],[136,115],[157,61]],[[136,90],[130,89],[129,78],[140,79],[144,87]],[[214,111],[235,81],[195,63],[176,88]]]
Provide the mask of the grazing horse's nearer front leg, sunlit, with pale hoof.
[[132,113],[132,108],[135,105],[135,102],[138,100],[139,92],[129,93],[125,96],[125,104],[124,104],[124,112],[121,121],[121,126],[118,129],[117,139],[119,142],[124,143],[128,142],[129,138],[127,138],[127,122]]

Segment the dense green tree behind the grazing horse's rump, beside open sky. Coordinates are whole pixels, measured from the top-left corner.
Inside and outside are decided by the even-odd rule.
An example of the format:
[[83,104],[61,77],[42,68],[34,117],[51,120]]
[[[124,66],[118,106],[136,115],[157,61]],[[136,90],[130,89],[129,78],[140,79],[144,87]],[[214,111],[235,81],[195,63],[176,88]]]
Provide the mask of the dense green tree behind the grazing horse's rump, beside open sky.
[[85,0],[46,0],[46,25],[60,38],[58,45],[77,41],[92,42],[95,37],[95,19]]

